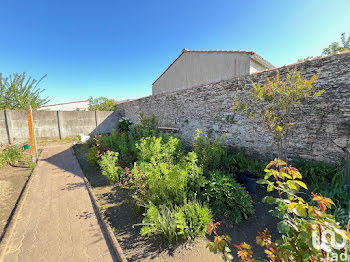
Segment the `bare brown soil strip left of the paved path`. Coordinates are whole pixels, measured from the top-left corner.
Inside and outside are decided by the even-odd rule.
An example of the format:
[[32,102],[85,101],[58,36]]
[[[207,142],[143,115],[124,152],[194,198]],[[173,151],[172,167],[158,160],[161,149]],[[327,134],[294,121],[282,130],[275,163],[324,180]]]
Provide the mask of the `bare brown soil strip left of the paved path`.
[[[23,158],[27,159],[28,155],[24,153]],[[0,234],[31,172],[24,162],[18,163],[18,166],[7,165],[0,168]]]

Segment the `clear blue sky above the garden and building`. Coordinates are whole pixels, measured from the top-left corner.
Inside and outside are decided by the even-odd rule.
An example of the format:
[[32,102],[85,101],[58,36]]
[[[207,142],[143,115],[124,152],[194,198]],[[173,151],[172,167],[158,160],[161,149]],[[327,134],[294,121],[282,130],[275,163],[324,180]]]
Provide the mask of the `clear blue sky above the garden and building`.
[[349,14],[349,0],[1,0],[0,72],[47,74],[50,103],[137,98],[183,48],[281,66],[350,33]]

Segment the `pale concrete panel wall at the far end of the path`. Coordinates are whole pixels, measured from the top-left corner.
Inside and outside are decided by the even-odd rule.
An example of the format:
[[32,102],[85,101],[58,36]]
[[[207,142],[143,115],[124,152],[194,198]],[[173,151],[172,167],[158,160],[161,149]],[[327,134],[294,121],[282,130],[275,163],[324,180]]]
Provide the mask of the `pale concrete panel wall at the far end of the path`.
[[[33,111],[39,139],[107,133],[117,128],[120,116],[120,112],[113,111]],[[26,111],[0,110],[0,143],[27,141],[27,121]]]

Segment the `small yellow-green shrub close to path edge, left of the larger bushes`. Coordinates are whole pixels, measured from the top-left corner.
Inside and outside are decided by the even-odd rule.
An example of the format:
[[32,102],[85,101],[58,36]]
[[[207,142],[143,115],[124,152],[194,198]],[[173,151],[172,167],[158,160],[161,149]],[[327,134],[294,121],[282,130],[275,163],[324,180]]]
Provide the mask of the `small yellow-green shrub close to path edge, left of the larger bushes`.
[[118,152],[107,151],[99,161],[99,165],[104,175],[110,183],[119,182],[120,178],[124,174],[124,170],[118,166]]

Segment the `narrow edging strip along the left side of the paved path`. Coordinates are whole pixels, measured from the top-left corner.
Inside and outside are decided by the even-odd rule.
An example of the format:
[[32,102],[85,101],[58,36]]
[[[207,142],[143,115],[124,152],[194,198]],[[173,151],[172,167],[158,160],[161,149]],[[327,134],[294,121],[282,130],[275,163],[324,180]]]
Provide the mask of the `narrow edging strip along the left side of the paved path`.
[[6,247],[7,247],[7,242],[8,239],[12,233],[12,230],[14,228],[14,226],[16,225],[16,220],[19,214],[19,211],[21,210],[24,200],[27,196],[28,193],[28,188],[30,187],[32,178],[35,175],[35,171],[37,169],[38,166],[38,162],[39,160],[41,160],[41,156],[42,154],[39,154],[39,157],[37,158],[36,162],[35,162],[35,167],[33,168],[32,172],[29,174],[29,177],[27,179],[27,181],[24,183],[23,188],[16,200],[15,206],[13,207],[10,216],[7,219],[6,225],[4,227],[4,230],[2,231],[1,235],[0,235],[0,261],[3,258],[3,255],[5,253]]

